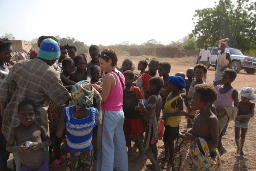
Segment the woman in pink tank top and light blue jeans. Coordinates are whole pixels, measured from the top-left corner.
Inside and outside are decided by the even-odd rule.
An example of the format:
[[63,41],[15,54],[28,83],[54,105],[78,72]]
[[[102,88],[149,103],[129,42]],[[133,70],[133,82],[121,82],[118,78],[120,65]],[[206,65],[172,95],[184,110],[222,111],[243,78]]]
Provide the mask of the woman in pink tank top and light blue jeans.
[[102,125],[98,126],[97,171],[128,171],[128,156],[123,131],[122,111],[125,77],[116,69],[117,56],[113,49],[99,55],[104,70],[102,85]]

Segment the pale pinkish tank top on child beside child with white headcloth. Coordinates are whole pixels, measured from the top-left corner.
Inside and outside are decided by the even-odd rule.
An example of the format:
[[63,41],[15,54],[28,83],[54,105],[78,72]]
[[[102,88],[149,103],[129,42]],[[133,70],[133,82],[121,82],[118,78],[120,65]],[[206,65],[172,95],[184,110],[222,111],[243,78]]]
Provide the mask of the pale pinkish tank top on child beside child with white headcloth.
[[214,103],[215,107],[231,106],[234,101],[232,95],[235,88],[231,88],[229,91],[223,94],[220,92],[220,88],[221,88],[221,85],[216,86],[218,98]]

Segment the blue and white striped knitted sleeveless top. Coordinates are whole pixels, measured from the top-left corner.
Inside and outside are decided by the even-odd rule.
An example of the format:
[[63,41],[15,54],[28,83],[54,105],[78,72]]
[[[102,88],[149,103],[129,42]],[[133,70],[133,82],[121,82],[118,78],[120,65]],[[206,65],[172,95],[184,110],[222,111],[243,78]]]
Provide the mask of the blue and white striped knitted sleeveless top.
[[96,126],[98,110],[90,108],[88,117],[76,119],[72,107],[63,109],[67,128],[67,149],[72,152],[89,151],[92,144],[93,127]]

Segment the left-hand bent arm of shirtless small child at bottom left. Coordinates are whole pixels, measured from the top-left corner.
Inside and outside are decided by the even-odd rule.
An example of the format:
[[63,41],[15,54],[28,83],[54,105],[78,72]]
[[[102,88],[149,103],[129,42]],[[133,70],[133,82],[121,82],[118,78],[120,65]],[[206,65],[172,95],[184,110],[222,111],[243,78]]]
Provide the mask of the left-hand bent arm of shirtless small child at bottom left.
[[6,144],[6,151],[10,152],[10,153],[14,153],[14,152],[21,152],[21,153],[25,153],[28,151],[28,148],[25,145],[25,142],[21,143],[20,145],[14,145],[15,143],[15,128],[12,128],[10,136],[9,136],[9,140],[7,141]]

